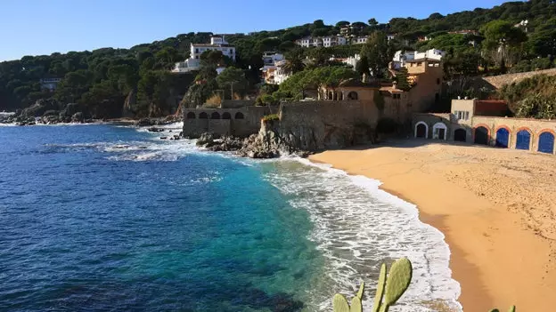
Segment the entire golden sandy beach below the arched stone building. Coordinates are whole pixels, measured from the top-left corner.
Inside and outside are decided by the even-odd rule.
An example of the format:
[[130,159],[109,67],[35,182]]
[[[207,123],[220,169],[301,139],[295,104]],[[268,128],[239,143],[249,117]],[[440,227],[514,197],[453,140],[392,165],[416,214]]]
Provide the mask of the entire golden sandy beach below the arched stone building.
[[553,311],[556,156],[405,140],[311,156],[383,182],[446,236],[465,311]]

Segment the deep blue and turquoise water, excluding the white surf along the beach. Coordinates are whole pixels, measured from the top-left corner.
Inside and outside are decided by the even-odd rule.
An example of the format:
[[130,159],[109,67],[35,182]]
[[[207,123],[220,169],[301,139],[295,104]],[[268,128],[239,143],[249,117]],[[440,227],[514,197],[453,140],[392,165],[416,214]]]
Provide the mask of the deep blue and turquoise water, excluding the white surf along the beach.
[[[111,125],[0,127],[1,311],[298,311],[323,269],[273,164]],[[181,148],[181,149],[180,149]]]

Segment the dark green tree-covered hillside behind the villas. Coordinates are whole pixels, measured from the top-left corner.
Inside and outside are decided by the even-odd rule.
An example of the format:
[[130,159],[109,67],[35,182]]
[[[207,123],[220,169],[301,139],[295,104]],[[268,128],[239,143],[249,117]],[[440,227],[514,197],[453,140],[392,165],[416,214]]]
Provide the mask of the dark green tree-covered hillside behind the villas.
[[[300,49],[294,41],[304,36],[337,35],[347,26],[350,26],[351,36],[367,36],[375,32],[395,35],[396,38],[388,43],[389,51],[433,47],[445,50],[448,52],[448,78],[554,65],[556,4],[552,0],[511,2],[492,9],[446,16],[432,13],[423,20],[395,18],[388,23],[379,23],[372,16],[370,18],[367,21],[339,21],[336,25],[315,20],[281,30],[226,35],[226,40],[237,49],[233,67],[241,68],[230,72],[245,77],[245,89],[252,90],[259,82],[258,69],[263,65],[261,56],[265,51],[286,53],[292,73],[304,69],[307,64],[299,60],[307,56],[317,67],[331,66],[333,64],[326,62],[331,55],[353,55],[360,52],[361,46]],[[514,27],[522,20],[527,20],[526,26]],[[450,33],[462,29],[478,32],[467,35]],[[211,73],[169,73],[176,61],[189,57],[191,43],[207,43],[210,35],[189,33],[131,49],[104,48],[4,61],[0,63],[0,110],[26,108],[38,99],[52,99],[60,103],[61,108],[67,103],[78,103],[84,111],[96,117],[118,117],[123,113],[130,116],[171,114],[176,110],[176,101],[173,100],[176,96],[187,93],[185,105],[193,105],[195,103],[188,101],[206,100],[214,89],[221,88],[213,84],[190,90],[196,79],[215,79]],[[423,41],[424,36],[430,40]],[[53,93],[42,91],[39,84],[40,79],[50,77],[62,78]]]

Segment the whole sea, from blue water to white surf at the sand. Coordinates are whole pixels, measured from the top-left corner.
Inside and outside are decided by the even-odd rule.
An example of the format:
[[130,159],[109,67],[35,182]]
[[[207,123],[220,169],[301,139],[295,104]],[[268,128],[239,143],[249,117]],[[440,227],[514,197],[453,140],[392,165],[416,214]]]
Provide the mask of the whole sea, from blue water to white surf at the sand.
[[180,132],[0,126],[0,311],[331,311],[413,262],[390,311],[462,311],[450,250],[380,181]]

